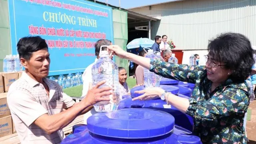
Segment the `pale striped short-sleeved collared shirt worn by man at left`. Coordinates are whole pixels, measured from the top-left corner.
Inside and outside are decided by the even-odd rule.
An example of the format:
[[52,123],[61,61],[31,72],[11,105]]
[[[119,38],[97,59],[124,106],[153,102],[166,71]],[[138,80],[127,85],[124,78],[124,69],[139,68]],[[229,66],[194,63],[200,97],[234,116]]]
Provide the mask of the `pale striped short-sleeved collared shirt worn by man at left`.
[[49,96],[42,83],[26,73],[22,73],[8,91],[7,103],[21,144],[59,144],[64,138],[62,130],[47,134],[34,124],[43,114],[58,114],[75,103],[58,83],[47,78],[43,81],[49,87]]

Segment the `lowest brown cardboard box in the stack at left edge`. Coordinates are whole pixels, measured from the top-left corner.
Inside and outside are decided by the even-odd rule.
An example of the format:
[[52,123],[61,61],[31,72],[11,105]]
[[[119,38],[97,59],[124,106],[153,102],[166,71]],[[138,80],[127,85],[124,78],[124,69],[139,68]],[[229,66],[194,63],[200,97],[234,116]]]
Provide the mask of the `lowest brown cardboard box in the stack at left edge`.
[[12,116],[0,118],[0,137],[12,134]]

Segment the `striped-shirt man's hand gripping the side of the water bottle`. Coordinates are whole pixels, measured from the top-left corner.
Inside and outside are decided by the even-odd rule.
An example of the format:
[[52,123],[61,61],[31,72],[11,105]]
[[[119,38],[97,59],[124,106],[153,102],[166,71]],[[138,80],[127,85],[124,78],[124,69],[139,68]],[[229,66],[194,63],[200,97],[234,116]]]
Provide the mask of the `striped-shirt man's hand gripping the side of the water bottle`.
[[88,105],[94,105],[100,101],[110,101],[109,97],[103,96],[112,95],[113,93],[110,92],[112,88],[103,87],[99,89],[99,87],[103,85],[105,82],[106,81],[100,81],[99,83],[97,83],[95,87],[88,91],[86,97],[82,101],[85,101]]

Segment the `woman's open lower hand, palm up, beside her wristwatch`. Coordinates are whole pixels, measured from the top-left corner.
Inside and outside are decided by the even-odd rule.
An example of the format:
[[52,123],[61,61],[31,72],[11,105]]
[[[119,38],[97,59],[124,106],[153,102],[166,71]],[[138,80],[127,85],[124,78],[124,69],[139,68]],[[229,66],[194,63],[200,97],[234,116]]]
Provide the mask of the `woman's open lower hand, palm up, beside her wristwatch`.
[[147,101],[155,98],[160,98],[162,93],[164,93],[164,90],[161,89],[160,87],[153,87],[153,88],[150,87],[142,91],[135,91],[135,93],[144,93],[144,94],[132,99],[132,101],[135,101],[135,100]]

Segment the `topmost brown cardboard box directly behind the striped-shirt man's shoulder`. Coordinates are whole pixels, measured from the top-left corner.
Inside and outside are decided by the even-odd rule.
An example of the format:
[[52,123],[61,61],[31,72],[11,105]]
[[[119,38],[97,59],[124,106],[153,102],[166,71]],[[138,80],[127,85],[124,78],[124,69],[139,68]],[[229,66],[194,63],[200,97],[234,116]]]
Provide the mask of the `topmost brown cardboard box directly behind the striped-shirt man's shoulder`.
[[4,92],[8,92],[10,85],[19,79],[18,73],[2,73],[4,78]]

